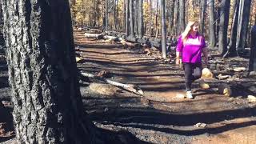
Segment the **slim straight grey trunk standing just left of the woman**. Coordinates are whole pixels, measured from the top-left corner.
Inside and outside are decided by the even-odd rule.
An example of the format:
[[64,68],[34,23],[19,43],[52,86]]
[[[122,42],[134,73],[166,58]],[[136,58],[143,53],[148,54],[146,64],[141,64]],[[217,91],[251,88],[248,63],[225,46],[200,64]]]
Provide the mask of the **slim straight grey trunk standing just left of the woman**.
[[161,15],[162,15],[162,25],[161,25],[162,58],[166,58],[166,1],[165,0],[161,0]]

